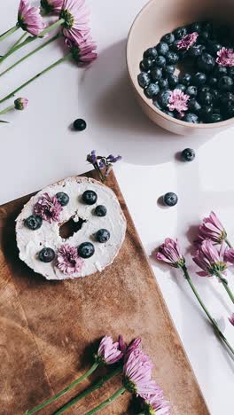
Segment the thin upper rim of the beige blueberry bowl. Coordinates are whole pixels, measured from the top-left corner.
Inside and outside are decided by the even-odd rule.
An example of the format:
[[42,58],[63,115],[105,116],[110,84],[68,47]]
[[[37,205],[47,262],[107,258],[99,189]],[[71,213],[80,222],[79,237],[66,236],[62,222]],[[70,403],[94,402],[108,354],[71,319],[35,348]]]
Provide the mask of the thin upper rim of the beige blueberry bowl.
[[[142,14],[151,7],[152,3],[156,3],[157,0],[150,0],[144,6],[142,9],[136,14],[136,18],[133,20],[133,23],[129,29],[129,35],[127,40],[127,48],[126,48],[126,60],[127,60],[127,67],[129,71],[129,78],[130,81],[136,90],[137,95],[144,101],[144,104],[148,106],[154,113],[158,114],[161,118],[164,118],[165,120],[171,121],[177,125],[183,126],[183,127],[189,127],[191,129],[215,129],[215,128],[222,128],[225,126],[232,125],[234,121],[234,117],[231,117],[229,120],[219,121],[219,122],[210,122],[210,123],[200,123],[200,124],[193,124],[193,122],[186,122],[182,120],[177,120],[176,118],[170,117],[169,115],[163,113],[158,109],[156,106],[153,106],[151,100],[144,96],[142,88],[140,88],[137,77],[135,78],[135,75],[133,74],[133,71],[131,69],[131,59],[130,59],[130,49],[132,43],[134,43],[134,30],[136,26],[136,22],[142,18]],[[140,69],[139,69],[140,73]]]

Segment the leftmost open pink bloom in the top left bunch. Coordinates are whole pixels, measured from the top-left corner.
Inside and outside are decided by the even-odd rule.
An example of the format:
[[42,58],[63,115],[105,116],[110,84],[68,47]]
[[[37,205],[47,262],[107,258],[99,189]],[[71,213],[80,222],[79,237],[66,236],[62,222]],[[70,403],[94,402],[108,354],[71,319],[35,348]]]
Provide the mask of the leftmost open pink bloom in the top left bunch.
[[39,7],[32,7],[27,0],[20,0],[18,24],[31,35],[38,36],[45,27]]

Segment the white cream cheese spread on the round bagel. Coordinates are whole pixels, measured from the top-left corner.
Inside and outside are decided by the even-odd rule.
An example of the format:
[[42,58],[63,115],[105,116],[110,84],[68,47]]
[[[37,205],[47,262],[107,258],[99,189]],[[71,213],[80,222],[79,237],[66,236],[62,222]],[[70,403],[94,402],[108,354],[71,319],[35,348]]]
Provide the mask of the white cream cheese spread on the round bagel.
[[[95,205],[89,206],[83,203],[82,193],[87,190],[97,193],[98,200]],[[36,231],[28,229],[25,225],[25,219],[34,214],[35,203],[44,193],[54,196],[58,192],[66,192],[69,196],[69,203],[66,207],[63,207],[59,215],[59,222],[48,223],[43,220],[40,229]],[[100,217],[94,214],[95,207],[98,205],[106,207],[107,214],[105,216]],[[74,221],[82,218],[86,222],[82,223],[82,229],[75,232],[73,236],[68,239],[61,239],[59,227],[71,217]],[[95,239],[99,229],[106,229],[110,232],[111,237],[106,243],[99,243]],[[113,191],[94,179],[79,176],[68,177],[38,192],[27,202],[16,220],[16,236],[20,259],[47,279],[85,277],[104,270],[119,253],[125,238],[125,232],[126,219]],[[58,248],[65,243],[71,247],[79,247],[83,242],[91,242],[95,247],[95,253],[90,258],[83,260],[84,264],[80,272],[71,276],[67,276],[58,270],[56,259],[53,262],[45,263],[38,258],[38,254],[43,247],[51,247],[56,253]]]

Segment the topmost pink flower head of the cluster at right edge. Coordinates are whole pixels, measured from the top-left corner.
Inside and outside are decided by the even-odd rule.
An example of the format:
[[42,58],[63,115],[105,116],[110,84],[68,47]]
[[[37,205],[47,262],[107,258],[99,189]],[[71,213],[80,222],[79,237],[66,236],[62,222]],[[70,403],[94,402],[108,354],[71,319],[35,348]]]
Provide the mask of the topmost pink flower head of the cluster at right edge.
[[204,239],[211,239],[214,243],[220,244],[226,238],[227,232],[214,212],[211,212],[208,217],[204,217],[202,224],[199,226],[199,242]]

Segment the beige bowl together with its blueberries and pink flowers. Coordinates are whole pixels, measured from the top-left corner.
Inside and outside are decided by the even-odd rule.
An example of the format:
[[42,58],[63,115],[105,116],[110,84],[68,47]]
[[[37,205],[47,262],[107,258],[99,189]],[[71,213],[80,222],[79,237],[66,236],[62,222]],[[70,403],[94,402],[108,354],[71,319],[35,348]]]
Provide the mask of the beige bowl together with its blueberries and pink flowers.
[[234,121],[234,2],[151,0],[127,45],[144,113],[175,134],[210,134]]

